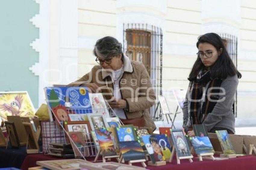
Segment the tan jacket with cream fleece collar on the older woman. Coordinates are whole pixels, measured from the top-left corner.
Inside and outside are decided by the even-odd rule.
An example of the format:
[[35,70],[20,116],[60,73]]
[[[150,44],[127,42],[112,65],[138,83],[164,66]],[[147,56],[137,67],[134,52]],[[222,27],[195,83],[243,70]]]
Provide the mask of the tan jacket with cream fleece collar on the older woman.
[[[147,109],[155,104],[156,97],[145,66],[142,62],[130,61],[128,57],[124,56],[123,70],[119,87],[122,99],[128,103],[128,109],[124,110],[126,118],[140,118],[144,114],[146,126],[155,130],[155,123]],[[106,72],[100,65],[95,65],[89,73],[67,86],[96,83],[99,87],[108,85],[113,89],[110,75],[111,73]]]

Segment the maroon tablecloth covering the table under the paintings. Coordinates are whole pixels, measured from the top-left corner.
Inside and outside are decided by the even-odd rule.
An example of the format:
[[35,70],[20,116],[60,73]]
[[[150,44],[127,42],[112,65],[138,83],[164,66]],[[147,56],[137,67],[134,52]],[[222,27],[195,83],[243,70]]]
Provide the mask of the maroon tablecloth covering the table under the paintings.
[[[38,166],[36,165],[36,161],[43,161],[43,160],[56,160],[56,159],[63,159],[57,158],[52,156],[47,156],[43,154],[31,154],[27,155],[21,169],[27,170],[30,167]],[[90,157],[87,160],[92,161],[94,157]],[[114,159],[113,159],[114,161]],[[189,160],[181,160],[180,165],[177,165],[176,158],[173,159],[173,162],[167,162],[166,165],[163,166],[147,166],[147,169],[150,170],[159,170],[159,169],[172,169],[172,170],[256,170],[256,156],[242,156],[232,159],[226,160],[203,160],[199,162],[198,158],[193,158],[192,163]],[[133,165],[142,166],[140,163],[134,163]]]

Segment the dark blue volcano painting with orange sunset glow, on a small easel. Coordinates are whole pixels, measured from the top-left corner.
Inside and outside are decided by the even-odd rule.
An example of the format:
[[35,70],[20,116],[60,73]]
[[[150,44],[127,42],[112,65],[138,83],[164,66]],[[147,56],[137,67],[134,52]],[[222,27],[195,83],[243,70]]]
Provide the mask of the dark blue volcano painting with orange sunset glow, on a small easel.
[[119,146],[124,161],[145,159],[145,153],[138,141],[120,142]]

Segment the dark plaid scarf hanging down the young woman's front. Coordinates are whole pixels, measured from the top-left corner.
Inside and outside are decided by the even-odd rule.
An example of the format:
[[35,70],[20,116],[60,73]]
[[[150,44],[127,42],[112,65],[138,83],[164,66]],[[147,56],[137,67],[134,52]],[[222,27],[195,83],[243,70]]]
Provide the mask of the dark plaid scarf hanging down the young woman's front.
[[[222,80],[219,78],[211,78],[210,70],[202,70],[199,72],[195,81],[189,83],[189,93],[190,99],[195,101],[190,101],[190,105],[188,105],[189,111],[189,119],[188,119],[188,127],[189,130],[192,130],[192,124],[202,124],[207,117],[208,113],[211,113],[214,106],[219,99],[219,95],[211,95],[210,99],[215,100],[214,102],[209,101],[207,97],[207,92],[210,87],[220,87]],[[204,87],[208,84],[206,91],[204,91]],[[212,89],[208,93],[219,93],[220,90]],[[203,95],[205,100],[203,105],[201,106],[201,100],[203,99]],[[188,101],[189,103],[189,101]],[[199,113],[199,116],[198,116]]]

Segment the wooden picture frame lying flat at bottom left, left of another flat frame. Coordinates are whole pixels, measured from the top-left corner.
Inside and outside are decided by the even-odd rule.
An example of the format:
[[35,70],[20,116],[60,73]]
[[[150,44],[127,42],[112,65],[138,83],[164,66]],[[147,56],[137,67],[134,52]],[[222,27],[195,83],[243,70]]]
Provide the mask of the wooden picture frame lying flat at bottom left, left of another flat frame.
[[[64,160],[50,160],[50,161],[36,161],[37,165],[49,168],[52,170],[80,170],[80,164],[91,163],[83,159],[64,159]],[[77,165],[77,166],[76,166]]]

